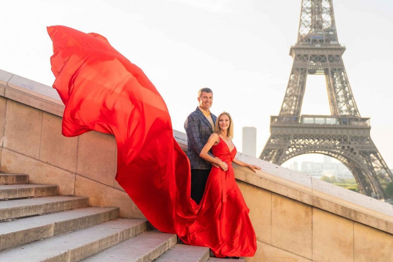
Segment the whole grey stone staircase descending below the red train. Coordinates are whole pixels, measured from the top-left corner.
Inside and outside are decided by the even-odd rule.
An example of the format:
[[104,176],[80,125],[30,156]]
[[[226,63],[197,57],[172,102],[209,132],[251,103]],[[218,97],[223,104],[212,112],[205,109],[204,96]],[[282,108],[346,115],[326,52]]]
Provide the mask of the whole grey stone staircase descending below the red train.
[[56,185],[0,174],[0,262],[230,262],[207,247],[177,243],[149,222],[119,218],[118,207],[88,207],[88,198],[58,196]]

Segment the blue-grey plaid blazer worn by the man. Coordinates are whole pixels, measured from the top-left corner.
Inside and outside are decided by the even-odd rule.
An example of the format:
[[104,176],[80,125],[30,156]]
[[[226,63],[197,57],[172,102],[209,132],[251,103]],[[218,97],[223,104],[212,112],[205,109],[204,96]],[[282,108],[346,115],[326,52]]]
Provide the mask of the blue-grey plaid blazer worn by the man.
[[[216,123],[217,117],[215,115],[211,114],[211,119],[213,119],[213,123]],[[211,169],[211,164],[201,158],[199,154],[208,142],[210,135],[213,134],[213,128],[199,107],[196,107],[196,110],[188,115],[184,129],[187,134],[187,156],[191,163],[191,169]],[[211,152],[209,155],[213,156]]]

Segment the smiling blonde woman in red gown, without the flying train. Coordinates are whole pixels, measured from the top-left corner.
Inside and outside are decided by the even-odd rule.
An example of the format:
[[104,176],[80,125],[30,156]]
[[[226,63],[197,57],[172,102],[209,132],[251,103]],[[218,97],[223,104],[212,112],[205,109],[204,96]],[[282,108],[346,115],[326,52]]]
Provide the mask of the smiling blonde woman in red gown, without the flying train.
[[[254,172],[261,168],[235,158],[232,137],[231,115],[222,112],[217,117],[215,133],[200,152],[201,158],[216,163],[219,168],[213,167],[209,174],[200,211],[191,226],[196,230],[182,240],[186,244],[195,244],[195,240],[201,239],[204,243],[198,244],[210,247],[216,257],[252,257],[257,248],[255,232],[248,216],[250,209],[235,181],[232,162]],[[210,156],[210,149],[221,160]]]

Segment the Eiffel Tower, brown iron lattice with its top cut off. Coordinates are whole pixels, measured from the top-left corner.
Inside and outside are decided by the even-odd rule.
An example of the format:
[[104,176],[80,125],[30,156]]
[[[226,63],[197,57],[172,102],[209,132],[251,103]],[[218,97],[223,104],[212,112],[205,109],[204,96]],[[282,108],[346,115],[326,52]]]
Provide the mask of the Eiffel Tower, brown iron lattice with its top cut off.
[[[332,0],[302,0],[294,62],[278,116],[270,117],[270,137],[259,158],[282,165],[295,156],[331,156],[351,170],[359,191],[386,198],[393,180],[370,137],[368,117],[356,106],[338,42]],[[331,115],[301,115],[307,75],[325,75]]]

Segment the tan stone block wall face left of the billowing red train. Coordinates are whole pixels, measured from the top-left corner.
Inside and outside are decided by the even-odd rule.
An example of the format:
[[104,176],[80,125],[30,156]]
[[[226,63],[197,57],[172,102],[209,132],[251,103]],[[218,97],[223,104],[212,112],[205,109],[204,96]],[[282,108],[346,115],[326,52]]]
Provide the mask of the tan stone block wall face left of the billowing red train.
[[64,137],[61,121],[57,115],[0,97],[0,171],[28,174],[29,183],[59,185],[60,195],[88,196],[90,206],[119,206],[121,217],[143,218],[114,180],[114,137],[99,132]]

